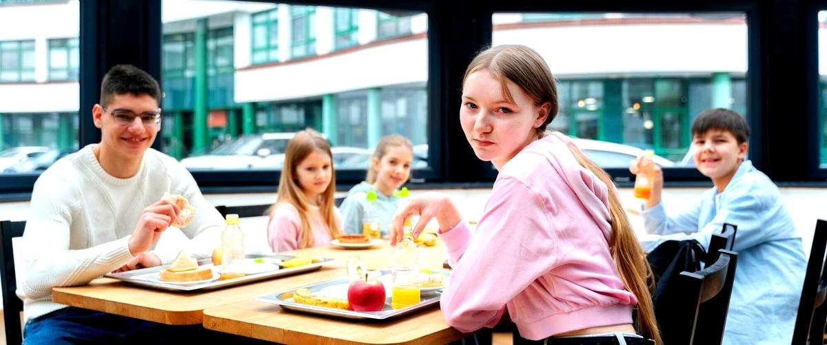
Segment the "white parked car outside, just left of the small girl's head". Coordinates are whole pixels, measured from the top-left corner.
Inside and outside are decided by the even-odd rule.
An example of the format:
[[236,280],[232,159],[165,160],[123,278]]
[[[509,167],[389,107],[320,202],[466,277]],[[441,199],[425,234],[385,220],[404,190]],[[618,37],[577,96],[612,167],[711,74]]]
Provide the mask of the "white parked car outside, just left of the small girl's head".
[[244,135],[218,145],[207,154],[181,159],[192,170],[280,168],[284,149],[295,133]]

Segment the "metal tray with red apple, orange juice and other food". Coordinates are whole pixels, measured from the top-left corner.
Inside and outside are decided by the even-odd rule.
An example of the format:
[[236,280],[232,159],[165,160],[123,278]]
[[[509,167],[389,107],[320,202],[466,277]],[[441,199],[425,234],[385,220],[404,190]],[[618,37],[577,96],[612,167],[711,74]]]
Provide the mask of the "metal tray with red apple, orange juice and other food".
[[391,319],[436,305],[450,275],[450,271],[442,269],[422,270],[418,273],[419,286],[394,288],[393,275],[385,269],[370,272],[365,280],[323,281],[256,300],[280,305],[285,310],[345,319]]

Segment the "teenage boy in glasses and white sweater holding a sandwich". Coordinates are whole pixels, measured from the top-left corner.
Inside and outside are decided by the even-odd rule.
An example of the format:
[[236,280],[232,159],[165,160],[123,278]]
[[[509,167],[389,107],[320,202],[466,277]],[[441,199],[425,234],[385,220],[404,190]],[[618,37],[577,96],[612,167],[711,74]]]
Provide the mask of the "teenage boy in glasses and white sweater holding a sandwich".
[[[191,333],[51,299],[55,286],[84,285],[108,272],[173,259],[151,251],[180,211],[161,200],[165,191],[181,194],[197,210],[182,229],[192,239],[189,252],[206,258],[218,245],[221,215],[184,166],[150,148],[160,130],[160,99],[148,73],[130,65],[112,68],[92,109],[100,143],[60,159],[35,183],[22,241],[25,270],[17,278],[27,320],[24,343],[163,343]],[[159,332],[167,328],[175,330]]]

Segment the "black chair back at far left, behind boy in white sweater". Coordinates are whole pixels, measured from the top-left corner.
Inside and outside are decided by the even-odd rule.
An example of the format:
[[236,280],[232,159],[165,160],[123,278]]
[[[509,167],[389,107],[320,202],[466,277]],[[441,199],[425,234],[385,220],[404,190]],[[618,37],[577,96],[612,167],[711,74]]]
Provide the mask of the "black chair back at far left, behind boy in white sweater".
[[0,221],[0,286],[2,286],[3,322],[6,324],[6,343],[19,344],[23,341],[20,327],[20,313],[23,301],[17,297],[17,277],[14,270],[12,239],[21,237],[26,221]]

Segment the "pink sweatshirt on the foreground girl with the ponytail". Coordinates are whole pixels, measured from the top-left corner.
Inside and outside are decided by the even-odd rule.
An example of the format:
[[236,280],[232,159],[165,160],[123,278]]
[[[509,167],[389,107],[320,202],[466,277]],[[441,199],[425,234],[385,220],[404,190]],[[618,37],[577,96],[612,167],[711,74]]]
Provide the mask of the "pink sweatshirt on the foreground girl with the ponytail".
[[634,295],[609,254],[605,183],[548,135],[505,163],[476,233],[440,234],[454,272],[442,294],[447,323],[493,327],[507,309],[523,338],[631,324]]

